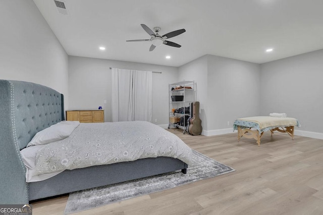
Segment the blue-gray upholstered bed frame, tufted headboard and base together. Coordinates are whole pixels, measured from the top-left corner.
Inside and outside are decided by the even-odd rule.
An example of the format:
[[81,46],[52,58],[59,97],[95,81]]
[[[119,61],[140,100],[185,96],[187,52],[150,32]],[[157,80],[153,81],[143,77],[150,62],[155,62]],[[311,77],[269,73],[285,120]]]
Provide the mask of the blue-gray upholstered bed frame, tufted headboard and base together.
[[[189,164],[176,156],[156,155],[128,162],[67,169],[45,180],[26,182],[27,168],[21,151],[26,149],[35,134],[64,122],[64,96],[42,85],[0,80],[0,119],[0,204],[25,204],[35,199],[177,170],[186,173]],[[79,127],[82,124],[87,124],[85,129],[91,129],[86,126],[101,123],[80,123]],[[156,125],[150,123],[150,126]]]

